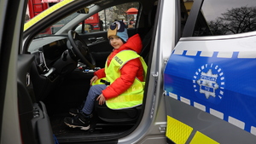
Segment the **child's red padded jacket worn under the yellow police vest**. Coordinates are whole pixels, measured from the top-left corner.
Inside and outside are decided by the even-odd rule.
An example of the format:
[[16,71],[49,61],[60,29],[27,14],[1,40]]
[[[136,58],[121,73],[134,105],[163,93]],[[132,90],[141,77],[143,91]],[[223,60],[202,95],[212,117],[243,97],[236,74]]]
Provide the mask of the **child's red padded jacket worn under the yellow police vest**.
[[[113,52],[108,56],[108,66],[113,57],[124,49],[131,49],[140,54],[143,48],[143,43],[138,34],[130,37],[119,49],[113,49]],[[143,65],[139,58],[129,60],[121,69],[121,76],[117,78],[113,84],[110,84],[107,89],[102,90],[102,94],[106,100],[121,95],[126,89],[129,89],[135,78],[143,81]],[[98,78],[105,78],[105,68],[95,72]]]

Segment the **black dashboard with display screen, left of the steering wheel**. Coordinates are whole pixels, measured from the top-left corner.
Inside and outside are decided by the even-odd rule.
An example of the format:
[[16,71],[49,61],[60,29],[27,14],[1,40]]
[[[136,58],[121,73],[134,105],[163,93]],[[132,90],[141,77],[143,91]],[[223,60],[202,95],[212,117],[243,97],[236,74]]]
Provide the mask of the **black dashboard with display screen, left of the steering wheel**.
[[38,100],[44,100],[61,78],[78,66],[78,59],[73,57],[67,47],[65,36],[40,37],[34,39],[28,52],[35,56],[32,66],[32,84]]

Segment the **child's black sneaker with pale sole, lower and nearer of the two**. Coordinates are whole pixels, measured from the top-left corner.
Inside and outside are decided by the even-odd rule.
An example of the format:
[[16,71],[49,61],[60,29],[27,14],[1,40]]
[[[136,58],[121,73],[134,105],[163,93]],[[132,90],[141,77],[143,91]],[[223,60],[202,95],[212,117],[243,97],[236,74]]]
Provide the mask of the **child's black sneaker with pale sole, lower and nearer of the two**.
[[75,117],[64,118],[64,123],[70,128],[80,128],[80,130],[90,129],[90,116],[86,116],[84,112],[79,112]]

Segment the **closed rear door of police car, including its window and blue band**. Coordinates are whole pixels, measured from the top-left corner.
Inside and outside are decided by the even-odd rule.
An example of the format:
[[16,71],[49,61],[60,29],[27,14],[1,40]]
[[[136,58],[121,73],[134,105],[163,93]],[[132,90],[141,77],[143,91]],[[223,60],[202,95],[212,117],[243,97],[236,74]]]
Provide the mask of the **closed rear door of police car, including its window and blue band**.
[[164,72],[167,141],[255,143],[255,1],[184,5],[189,17]]

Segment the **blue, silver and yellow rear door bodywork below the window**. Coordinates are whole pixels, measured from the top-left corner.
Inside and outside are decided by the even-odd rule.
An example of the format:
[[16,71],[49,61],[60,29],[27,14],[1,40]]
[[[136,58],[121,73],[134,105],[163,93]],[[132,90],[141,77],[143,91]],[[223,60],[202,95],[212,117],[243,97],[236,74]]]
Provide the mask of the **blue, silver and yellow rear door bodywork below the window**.
[[167,118],[190,130],[186,141],[195,141],[199,132],[218,143],[256,141],[255,38],[177,43],[165,70]]

